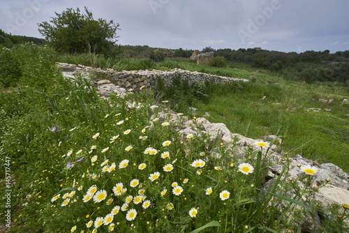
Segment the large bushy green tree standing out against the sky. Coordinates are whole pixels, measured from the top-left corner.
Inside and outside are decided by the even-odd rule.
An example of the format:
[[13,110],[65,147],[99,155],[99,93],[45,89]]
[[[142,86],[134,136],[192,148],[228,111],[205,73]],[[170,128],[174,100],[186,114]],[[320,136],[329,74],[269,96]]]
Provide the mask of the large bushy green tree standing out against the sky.
[[119,24],[94,17],[85,6],[84,13],[77,8],[67,8],[55,13],[50,22],[38,24],[39,32],[58,52],[94,52],[112,55],[117,52]]

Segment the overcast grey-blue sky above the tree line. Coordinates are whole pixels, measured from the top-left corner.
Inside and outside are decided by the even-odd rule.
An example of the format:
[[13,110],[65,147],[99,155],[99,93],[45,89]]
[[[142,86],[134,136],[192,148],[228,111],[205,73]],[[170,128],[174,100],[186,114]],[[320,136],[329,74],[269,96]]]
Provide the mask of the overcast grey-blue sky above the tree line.
[[42,38],[38,23],[84,6],[120,24],[121,45],[349,50],[348,0],[0,0],[0,29]]

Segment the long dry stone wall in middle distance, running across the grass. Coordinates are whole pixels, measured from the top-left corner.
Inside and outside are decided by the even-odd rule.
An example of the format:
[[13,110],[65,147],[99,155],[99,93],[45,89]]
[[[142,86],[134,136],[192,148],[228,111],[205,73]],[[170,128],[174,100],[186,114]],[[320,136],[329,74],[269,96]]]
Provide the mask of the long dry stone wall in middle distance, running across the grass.
[[[101,68],[92,68],[89,66],[73,65],[68,63],[57,63],[64,73],[73,75],[74,73],[82,73],[88,76],[89,73],[94,72],[96,77],[103,77],[102,79],[110,80],[116,86],[124,89],[134,89],[138,91],[140,87],[145,86],[146,89],[154,89],[159,77],[164,81],[165,87],[170,87],[174,78],[181,76],[182,80],[188,80],[189,84],[193,82],[214,81],[219,83],[226,82],[248,82],[248,80],[237,79],[235,77],[223,77],[218,75],[209,75],[207,73],[191,72],[188,70],[173,69],[173,70],[123,70],[117,71],[112,69],[102,70]],[[92,73],[93,74],[93,73]]]

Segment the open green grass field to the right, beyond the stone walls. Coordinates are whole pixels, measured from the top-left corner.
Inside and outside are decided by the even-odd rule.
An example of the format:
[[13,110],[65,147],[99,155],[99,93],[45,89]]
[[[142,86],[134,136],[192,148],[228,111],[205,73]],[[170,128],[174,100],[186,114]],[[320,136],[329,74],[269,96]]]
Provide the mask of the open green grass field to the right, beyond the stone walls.
[[[209,121],[225,123],[232,133],[246,137],[262,139],[266,135],[283,135],[283,150],[320,163],[334,163],[349,171],[349,161],[343,160],[349,153],[348,105],[341,105],[349,91],[343,84],[292,82],[246,64],[230,63],[240,69],[212,68],[187,59],[174,61],[187,70],[251,81],[218,87],[209,93],[208,102],[194,98],[192,104],[198,108],[199,116],[209,112]],[[264,100],[263,96],[266,96]],[[333,99],[333,102],[320,103],[319,98]],[[307,112],[311,107],[321,111]]]

